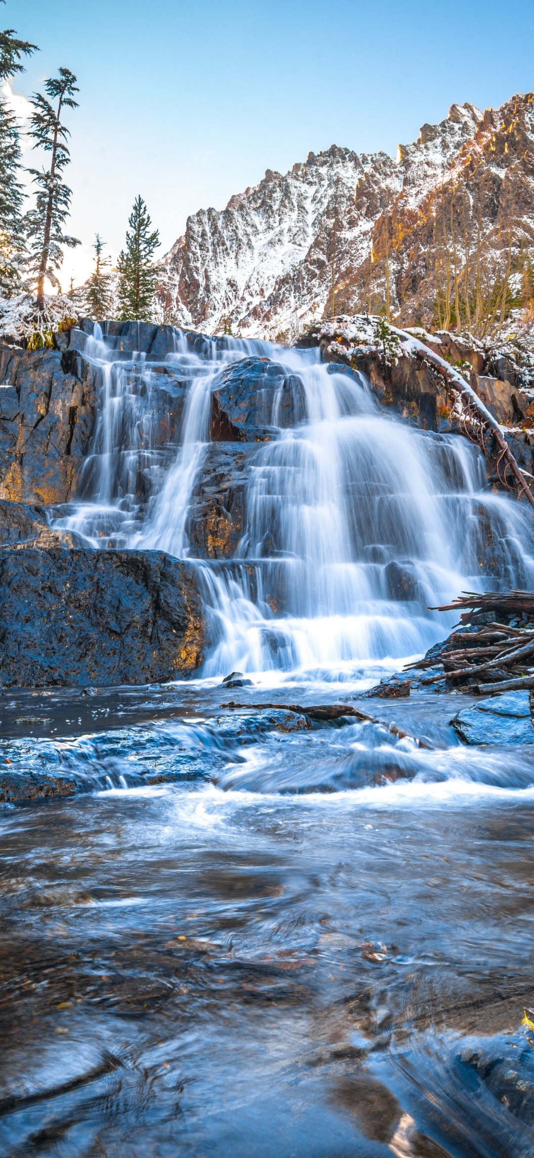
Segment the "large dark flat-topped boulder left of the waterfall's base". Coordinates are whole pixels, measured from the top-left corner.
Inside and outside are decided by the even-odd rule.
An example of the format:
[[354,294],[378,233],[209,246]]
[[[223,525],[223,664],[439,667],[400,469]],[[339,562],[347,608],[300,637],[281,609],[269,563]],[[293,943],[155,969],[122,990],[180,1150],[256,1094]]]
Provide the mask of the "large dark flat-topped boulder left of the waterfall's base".
[[163,551],[0,551],[6,687],[149,683],[202,662],[196,573]]

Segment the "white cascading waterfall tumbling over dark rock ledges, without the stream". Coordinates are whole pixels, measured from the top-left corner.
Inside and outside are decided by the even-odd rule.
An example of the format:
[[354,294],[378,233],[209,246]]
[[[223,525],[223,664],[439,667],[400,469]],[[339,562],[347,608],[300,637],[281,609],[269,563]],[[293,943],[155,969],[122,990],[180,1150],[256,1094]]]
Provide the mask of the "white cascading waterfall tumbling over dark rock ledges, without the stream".
[[[95,547],[188,557],[191,496],[221,369],[269,357],[303,387],[306,420],[289,430],[279,427],[281,390],[273,391],[279,437],[254,453],[236,560],[198,563],[212,638],[206,675],[274,668],[354,680],[370,661],[394,669],[445,633],[429,603],[532,585],[525,511],[488,490],[480,453],[381,412],[363,379],[332,373],[316,351],[236,339],[198,339],[194,350],[179,331],[161,364],[139,354],[117,361],[98,329],[84,349],[102,374],[84,500],[55,521]],[[162,446],[158,391],[177,376],[181,423]],[[140,476],[151,492],[144,510]]]

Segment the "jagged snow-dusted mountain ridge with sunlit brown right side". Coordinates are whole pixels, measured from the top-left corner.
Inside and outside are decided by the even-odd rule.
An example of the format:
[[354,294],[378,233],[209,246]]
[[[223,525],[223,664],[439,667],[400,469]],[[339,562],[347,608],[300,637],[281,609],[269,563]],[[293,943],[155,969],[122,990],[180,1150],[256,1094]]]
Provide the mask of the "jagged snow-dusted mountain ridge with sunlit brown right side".
[[453,104],[395,159],[333,145],[284,175],[268,169],[222,212],[193,214],[164,258],[160,300],[177,325],[288,340],[331,313],[378,312],[387,273],[391,309],[429,324],[452,234],[458,272],[479,237],[484,273],[506,261],[511,217],[514,245],[534,244],[533,193],[534,94],[485,112]]

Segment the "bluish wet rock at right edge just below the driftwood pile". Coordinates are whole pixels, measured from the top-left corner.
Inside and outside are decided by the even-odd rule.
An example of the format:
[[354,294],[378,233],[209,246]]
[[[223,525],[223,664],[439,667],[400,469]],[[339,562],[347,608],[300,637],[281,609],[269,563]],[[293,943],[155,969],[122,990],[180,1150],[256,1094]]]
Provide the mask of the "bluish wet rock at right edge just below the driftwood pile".
[[534,743],[528,691],[507,691],[465,708],[451,724],[463,743]]

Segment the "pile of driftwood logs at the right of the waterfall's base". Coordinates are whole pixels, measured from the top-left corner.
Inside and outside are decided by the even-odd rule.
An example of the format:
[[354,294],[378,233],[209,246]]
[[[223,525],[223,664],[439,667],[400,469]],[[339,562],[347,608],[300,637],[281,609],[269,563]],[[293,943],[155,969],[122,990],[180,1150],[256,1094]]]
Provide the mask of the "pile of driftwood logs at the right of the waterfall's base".
[[480,595],[466,592],[445,607],[432,611],[461,610],[461,631],[452,631],[437,650],[431,647],[423,660],[408,665],[443,672],[421,680],[421,684],[443,679],[466,691],[512,691],[534,688],[534,592],[510,591]]

